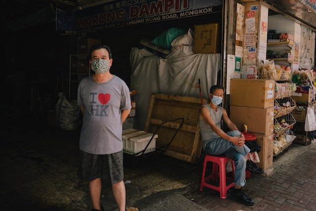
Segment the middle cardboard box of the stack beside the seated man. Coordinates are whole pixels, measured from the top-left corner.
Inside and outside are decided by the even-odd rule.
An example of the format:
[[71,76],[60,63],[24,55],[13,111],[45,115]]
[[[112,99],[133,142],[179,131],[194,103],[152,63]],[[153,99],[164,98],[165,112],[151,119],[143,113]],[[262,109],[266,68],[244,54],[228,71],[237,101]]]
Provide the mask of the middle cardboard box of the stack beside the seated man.
[[269,135],[274,131],[274,107],[248,108],[230,106],[230,119],[242,131],[243,124],[248,127],[249,133]]

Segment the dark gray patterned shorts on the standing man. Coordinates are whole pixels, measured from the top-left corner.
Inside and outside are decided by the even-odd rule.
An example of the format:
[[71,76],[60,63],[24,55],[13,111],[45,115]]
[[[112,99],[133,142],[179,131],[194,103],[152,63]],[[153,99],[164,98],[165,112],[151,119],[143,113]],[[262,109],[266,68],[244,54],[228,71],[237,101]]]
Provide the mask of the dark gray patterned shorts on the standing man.
[[123,150],[109,155],[94,155],[80,150],[78,177],[84,182],[101,177],[111,184],[124,179]]

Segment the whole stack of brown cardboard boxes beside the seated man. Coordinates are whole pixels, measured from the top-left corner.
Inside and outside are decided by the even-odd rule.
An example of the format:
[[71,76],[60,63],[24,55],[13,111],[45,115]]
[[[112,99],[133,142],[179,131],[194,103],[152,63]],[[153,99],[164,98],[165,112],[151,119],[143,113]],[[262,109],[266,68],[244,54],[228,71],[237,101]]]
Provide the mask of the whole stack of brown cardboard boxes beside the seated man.
[[242,131],[257,136],[262,169],[273,165],[275,81],[264,79],[231,79],[230,119]]

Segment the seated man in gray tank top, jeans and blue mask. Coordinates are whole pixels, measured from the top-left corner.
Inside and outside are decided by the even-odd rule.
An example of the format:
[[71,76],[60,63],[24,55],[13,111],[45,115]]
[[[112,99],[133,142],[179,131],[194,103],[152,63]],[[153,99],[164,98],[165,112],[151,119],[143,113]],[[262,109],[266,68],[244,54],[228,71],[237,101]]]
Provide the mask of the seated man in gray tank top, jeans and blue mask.
[[[252,206],[253,200],[241,190],[246,182],[245,156],[250,149],[244,144],[244,135],[229,119],[226,110],[219,106],[223,101],[224,87],[213,85],[209,92],[209,102],[202,105],[198,112],[204,153],[215,156],[225,155],[235,162],[235,188],[232,190],[231,198]],[[231,131],[225,133],[221,129],[222,120]]]

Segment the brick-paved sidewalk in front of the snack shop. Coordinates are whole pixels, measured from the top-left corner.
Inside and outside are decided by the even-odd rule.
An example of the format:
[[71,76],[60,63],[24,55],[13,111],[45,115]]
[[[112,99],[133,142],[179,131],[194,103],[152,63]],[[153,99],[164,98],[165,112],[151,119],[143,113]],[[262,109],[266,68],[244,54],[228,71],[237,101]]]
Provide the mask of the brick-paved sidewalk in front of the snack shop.
[[[270,176],[252,175],[245,192],[255,201],[243,206],[229,199],[220,199],[216,191],[204,188],[185,196],[210,211],[315,211],[316,210],[316,143],[308,146],[292,144],[274,162]],[[279,160],[278,160],[279,159]]]

